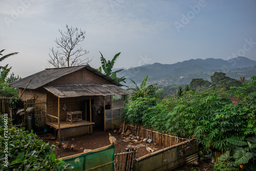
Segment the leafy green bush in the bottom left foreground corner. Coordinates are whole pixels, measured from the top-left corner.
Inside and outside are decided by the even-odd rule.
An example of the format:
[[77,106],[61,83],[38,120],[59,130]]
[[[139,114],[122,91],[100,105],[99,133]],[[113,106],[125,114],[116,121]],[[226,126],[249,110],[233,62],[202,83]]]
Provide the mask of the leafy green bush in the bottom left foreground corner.
[[[55,157],[55,151],[52,149],[55,146],[38,140],[35,134],[24,131],[24,128],[6,128],[3,125],[3,115],[0,120],[0,135],[3,136],[0,138],[1,170],[63,170],[66,167],[62,159]],[[5,148],[5,142],[8,142],[8,150]],[[5,166],[5,154],[8,154],[8,167]]]

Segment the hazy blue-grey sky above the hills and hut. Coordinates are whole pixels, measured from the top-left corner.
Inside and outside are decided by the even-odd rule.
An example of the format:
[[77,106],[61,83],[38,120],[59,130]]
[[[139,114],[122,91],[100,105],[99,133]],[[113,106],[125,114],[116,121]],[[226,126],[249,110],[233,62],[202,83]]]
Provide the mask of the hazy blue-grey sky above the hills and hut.
[[0,50],[19,52],[0,63],[26,77],[49,66],[49,48],[66,24],[86,31],[90,66],[121,52],[115,68],[245,56],[256,60],[255,0],[2,0]]

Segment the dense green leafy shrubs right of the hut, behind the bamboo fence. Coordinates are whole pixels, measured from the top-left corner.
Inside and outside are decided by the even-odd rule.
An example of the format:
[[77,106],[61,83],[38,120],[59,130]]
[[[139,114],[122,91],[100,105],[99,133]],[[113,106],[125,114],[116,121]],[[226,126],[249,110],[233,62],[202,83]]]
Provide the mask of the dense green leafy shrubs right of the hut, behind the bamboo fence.
[[[188,91],[158,103],[141,94],[127,105],[124,118],[174,136],[195,137],[205,149],[227,151],[229,137],[256,135],[255,78],[229,92]],[[231,95],[239,97],[240,102],[234,105]]]

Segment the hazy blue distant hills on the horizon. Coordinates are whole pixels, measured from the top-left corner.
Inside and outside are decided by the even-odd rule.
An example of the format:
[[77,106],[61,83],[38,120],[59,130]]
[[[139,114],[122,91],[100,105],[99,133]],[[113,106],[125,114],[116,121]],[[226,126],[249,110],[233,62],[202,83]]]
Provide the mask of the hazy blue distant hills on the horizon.
[[[216,71],[224,72],[231,78],[245,76],[249,78],[256,75],[256,61],[246,57],[223,59],[190,59],[174,64],[153,63],[121,71],[118,77],[126,77],[126,86],[133,87],[134,84],[129,79],[133,79],[140,84],[148,75],[148,84],[189,84],[193,78],[203,78],[210,81],[210,76]],[[123,82],[122,82],[123,83]],[[124,83],[123,83],[124,84]]]

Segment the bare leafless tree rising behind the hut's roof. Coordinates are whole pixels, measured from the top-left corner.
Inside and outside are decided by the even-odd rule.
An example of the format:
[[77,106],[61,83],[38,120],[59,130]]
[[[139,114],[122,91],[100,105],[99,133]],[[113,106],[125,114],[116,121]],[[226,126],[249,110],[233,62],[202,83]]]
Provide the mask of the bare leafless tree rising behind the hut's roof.
[[86,65],[92,59],[80,59],[81,56],[88,54],[89,52],[80,46],[80,42],[84,40],[84,34],[86,31],[74,27],[68,27],[66,25],[67,31],[62,32],[59,30],[61,36],[54,40],[57,44],[57,50],[54,50],[53,47],[51,54],[49,53],[50,59],[48,62],[54,68],[62,67],[72,67],[72,66],[81,66]]

